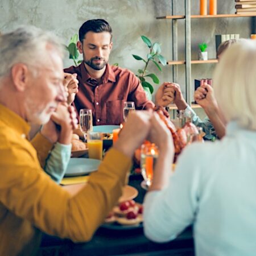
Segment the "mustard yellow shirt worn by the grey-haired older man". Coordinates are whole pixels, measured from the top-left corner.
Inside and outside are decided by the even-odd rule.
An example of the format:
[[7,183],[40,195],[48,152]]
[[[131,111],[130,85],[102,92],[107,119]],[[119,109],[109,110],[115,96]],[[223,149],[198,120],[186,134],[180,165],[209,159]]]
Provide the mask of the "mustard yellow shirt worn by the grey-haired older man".
[[[40,167],[52,145],[0,104],[0,255],[32,255],[41,232],[88,241],[121,196],[131,160],[109,150],[97,172],[75,196]],[[37,151],[35,150],[37,149]],[[39,159],[38,159],[39,156]]]

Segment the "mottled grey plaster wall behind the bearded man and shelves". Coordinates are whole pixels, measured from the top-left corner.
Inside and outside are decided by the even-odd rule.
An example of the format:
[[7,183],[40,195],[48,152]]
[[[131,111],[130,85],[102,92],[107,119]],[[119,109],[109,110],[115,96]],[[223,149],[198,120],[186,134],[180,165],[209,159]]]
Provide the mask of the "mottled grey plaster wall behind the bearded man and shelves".
[[[218,0],[218,13],[234,13],[234,0]],[[191,0],[192,14],[199,14],[199,0]],[[176,14],[184,14],[184,1],[175,1]],[[145,56],[147,48],[140,36],[146,35],[152,41],[162,44],[163,55],[171,59],[171,20],[156,20],[156,16],[170,15],[170,0],[1,0],[0,31],[10,31],[20,24],[32,24],[52,30],[68,44],[69,38],[78,32],[87,19],[103,18],[113,28],[114,47],[110,63],[136,72],[142,63],[134,60],[131,53]],[[197,59],[197,48],[201,42],[209,44],[208,55],[215,52],[215,34],[250,35],[251,18],[193,19],[192,59]],[[179,59],[184,59],[184,21],[179,20]],[[72,65],[68,54],[64,66]],[[154,65],[148,68],[158,72]],[[192,65],[192,79],[211,77],[214,64]],[[179,65],[179,83],[184,88],[184,66]],[[171,67],[164,67],[158,73],[160,81],[171,81]]]

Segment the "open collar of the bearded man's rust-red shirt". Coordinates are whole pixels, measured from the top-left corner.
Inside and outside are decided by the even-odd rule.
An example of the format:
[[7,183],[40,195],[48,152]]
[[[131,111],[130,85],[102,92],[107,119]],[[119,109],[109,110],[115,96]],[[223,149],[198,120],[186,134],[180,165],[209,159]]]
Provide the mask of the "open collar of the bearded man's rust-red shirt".
[[[81,67],[82,81],[86,81],[88,82],[88,84],[93,86],[98,85],[98,82],[95,79],[93,79],[89,75],[89,73],[86,71],[84,61],[82,61],[82,63],[80,64],[80,67]],[[102,82],[106,83],[108,81],[115,82],[115,73],[112,70],[111,66],[109,64],[106,64],[106,69],[102,76]]]

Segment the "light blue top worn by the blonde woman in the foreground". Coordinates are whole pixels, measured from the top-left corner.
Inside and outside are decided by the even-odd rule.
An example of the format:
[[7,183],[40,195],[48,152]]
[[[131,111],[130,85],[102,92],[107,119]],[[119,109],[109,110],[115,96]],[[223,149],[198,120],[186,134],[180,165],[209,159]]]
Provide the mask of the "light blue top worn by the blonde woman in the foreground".
[[256,131],[232,122],[221,141],[192,143],[168,187],[147,193],[148,238],[170,241],[191,224],[196,255],[256,255]]

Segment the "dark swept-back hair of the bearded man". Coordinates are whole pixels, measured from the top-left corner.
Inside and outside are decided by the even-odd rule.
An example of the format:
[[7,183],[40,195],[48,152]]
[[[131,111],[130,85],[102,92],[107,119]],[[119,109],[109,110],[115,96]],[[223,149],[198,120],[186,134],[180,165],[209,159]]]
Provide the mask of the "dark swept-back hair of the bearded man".
[[82,26],[79,28],[79,40],[85,38],[87,32],[92,31],[94,33],[100,32],[109,32],[111,35],[110,40],[112,40],[112,28],[110,27],[109,23],[106,22],[104,19],[89,19],[87,20]]

